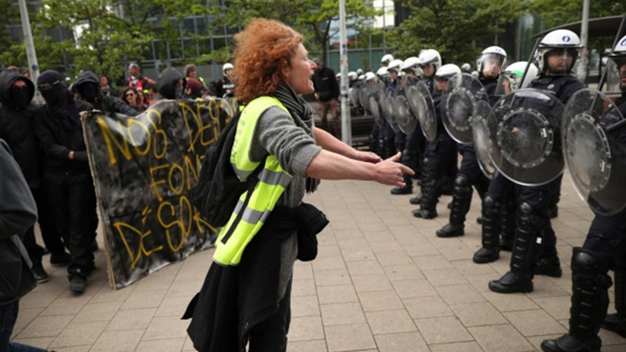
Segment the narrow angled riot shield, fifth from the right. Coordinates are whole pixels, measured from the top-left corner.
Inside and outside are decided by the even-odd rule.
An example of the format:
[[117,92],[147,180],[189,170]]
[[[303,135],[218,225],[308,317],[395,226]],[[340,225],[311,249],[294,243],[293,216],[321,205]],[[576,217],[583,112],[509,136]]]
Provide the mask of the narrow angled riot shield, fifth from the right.
[[405,96],[413,115],[418,118],[426,140],[433,141],[437,135],[437,120],[434,112],[433,97],[423,81],[406,88]]

